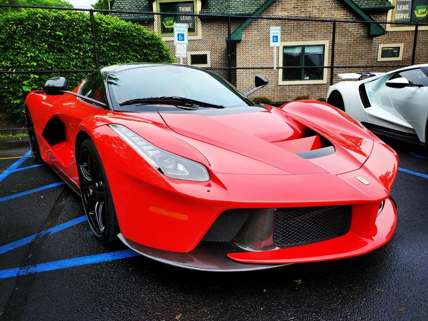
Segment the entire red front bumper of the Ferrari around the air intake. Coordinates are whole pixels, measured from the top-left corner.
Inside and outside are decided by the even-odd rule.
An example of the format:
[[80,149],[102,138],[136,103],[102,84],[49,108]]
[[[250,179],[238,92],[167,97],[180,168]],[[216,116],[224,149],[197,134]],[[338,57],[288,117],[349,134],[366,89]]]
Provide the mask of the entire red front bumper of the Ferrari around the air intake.
[[[363,254],[386,243],[395,228],[395,207],[387,197],[397,173],[398,158],[374,136],[376,143],[370,157],[352,172],[245,175],[213,171],[210,181],[190,182],[162,176],[104,127],[97,128],[101,138],[97,149],[113,196],[119,237],[127,246],[152,259],[203,270],[269,268]],[[120,158],[111,146],[121,146]],[[318,160],[331,161],[329,156]],[[357,176],[370,184],[362,184]],[[377,216],[384,199],[386,205]],[[352,206],[349,232],[329,240],[261,251],[224,244],[216,248],[212,247],[213,242],[210,245],[202,241],[220,214],[231,209],[341,205]]]

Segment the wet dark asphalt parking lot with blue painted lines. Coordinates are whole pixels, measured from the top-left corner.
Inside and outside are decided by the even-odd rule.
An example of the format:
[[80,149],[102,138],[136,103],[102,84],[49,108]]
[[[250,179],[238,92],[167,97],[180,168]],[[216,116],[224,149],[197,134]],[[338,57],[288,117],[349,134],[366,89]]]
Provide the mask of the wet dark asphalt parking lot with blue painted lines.
[[0,150],[0,320],[428,320],[428,153],[387,143],[400,171],[386,245],[241,273],[103,246],[52,169],[34,166],[27,146]]

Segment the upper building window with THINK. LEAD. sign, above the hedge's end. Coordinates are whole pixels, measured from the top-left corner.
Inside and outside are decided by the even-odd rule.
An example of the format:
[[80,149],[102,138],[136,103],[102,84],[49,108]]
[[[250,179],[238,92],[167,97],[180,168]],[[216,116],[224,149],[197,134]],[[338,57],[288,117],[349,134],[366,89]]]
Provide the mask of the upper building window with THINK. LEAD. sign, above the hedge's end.
[[186,13],[194,13],[195,7],[192,2],[162,2],[159,3],[161,12],[170,12],[170,15],[161,15],[161,33],[173,33],[174,24],[187,24],[189,33],[195,31],[195,17],[185,15]]

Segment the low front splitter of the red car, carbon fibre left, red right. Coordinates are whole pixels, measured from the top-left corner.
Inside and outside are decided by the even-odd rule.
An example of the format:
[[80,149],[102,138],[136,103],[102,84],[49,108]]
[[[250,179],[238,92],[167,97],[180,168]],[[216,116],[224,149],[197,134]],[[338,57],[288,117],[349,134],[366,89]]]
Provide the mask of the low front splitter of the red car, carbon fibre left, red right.
[[363,208],[354,210],[351,228],[345,235],[312,244],[279,250],[246,251],[230,243],[202,241],[187,253],[158,250],[135,243],[122,234],[119,239],[132,250],[150,259],[181,268],[217,272],[262,270],[303,262],[343,259],[368,253],[391,238],[397,212],[391,199],[386,199],[383,210],[370,222]]

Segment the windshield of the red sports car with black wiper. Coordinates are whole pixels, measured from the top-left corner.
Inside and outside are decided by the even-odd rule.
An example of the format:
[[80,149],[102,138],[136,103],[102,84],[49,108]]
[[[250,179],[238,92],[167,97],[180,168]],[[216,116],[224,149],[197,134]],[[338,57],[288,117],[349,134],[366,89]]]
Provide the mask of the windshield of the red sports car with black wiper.
[[[247,97],[217,74],[180,65],[155,65],[118,71],[109,75],[107,83],[113,109],[117,111],[183,111],[180,108],[184,104],[183,99],[176,99],[176,102],[175,99],[173,102],[156,101],[155,98],[160,97],[179,97],[208,104],[195,105],[194,108],[212,108],[209,104],[225,108],[253,106]],[[154,99],[142,103],[138,101],[141,98]]]

